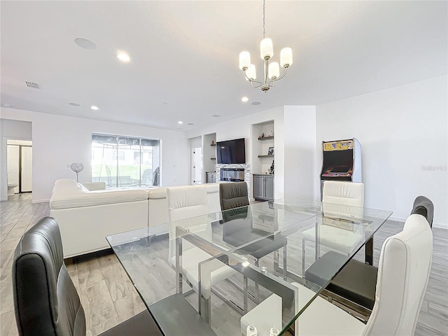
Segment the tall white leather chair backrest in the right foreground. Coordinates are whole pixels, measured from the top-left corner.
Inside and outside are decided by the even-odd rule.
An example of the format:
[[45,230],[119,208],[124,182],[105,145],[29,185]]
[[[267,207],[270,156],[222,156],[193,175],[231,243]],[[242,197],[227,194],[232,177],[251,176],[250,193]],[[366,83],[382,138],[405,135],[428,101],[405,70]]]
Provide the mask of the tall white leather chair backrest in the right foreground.
[[375,303],[363,335],[414,335],[433,257],[433,233],[413,214],[379,257]]

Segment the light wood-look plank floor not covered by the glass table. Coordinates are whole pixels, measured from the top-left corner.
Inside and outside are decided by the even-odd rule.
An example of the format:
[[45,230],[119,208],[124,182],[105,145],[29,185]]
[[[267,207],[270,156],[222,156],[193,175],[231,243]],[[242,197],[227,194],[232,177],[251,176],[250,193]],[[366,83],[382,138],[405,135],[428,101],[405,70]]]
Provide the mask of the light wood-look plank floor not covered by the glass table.
[[[9,196],[0,207],[0,335],[9,336],[18,335],[11,286],[13,251],[23,233],[48,216],[49,208],[48,203],[31,204],[30,193]],[[400,230],[402,223],[388,221],[377,232],[374,264],[384,239]],[[448,335],[448,230],[434,228],[433,237],[433,267],[415,332],[419,336]],[[67,268],[85,309],[87,335],[98,335],[145,309],[115,255],[71,263]]]

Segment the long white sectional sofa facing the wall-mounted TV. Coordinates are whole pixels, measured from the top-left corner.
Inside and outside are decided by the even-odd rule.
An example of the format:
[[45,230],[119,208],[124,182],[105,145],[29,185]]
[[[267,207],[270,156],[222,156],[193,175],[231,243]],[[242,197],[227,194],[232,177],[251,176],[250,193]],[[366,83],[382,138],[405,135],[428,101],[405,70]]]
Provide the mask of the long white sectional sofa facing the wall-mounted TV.
[[[209,212],[220,211],[219,183],[206,186]],[[166,187],[105,187],[73,179],[55,182],[50,216],[59,223],[64,258],[109,248],[106,235],[169,221]]]

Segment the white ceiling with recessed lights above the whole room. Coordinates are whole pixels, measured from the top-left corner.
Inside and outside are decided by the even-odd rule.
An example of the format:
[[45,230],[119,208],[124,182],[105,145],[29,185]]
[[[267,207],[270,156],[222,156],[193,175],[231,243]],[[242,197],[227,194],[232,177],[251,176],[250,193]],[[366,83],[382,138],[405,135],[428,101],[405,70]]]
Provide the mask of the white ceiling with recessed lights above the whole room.
[[[238,68],[239,52],[248,50],[261,77],[261,0],[0,6],[1,104],[15,109],[188,131],[447,73],[447,1],[268,0],[274,60],[289,46],[294,64],[267,93],[252,89]],[[75,38],[97,48],[80,48]],[[131,62],[120,62],[117,50]]]

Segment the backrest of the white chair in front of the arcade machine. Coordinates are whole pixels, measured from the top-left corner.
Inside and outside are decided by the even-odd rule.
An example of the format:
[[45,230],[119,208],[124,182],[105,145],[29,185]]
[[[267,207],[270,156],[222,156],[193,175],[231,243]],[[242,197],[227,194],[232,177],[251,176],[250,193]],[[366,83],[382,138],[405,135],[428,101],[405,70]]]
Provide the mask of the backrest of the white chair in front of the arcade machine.
[[364,207],[364,183],[325,181],[322,204],[324,215],[351,214],[353,217],[360,217]]

